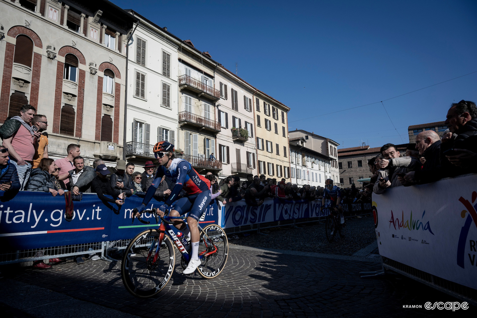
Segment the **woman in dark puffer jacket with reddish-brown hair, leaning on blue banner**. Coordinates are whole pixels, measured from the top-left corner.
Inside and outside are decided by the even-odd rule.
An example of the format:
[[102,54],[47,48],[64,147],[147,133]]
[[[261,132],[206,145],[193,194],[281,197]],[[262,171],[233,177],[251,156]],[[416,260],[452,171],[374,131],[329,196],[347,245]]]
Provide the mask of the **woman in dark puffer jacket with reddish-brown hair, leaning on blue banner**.
[[50,192],[53,196],[63,195],[62,182],[57,180],[55,174],[59,174],[55,161],[52,158],[42,158],[38,168],[31,170],[27,191]]

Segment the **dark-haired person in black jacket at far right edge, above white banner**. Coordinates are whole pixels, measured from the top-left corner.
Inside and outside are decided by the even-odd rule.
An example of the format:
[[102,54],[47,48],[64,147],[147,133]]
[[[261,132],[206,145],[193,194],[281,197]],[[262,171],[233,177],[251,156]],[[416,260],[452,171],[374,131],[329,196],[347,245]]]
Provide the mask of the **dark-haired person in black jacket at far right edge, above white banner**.
[[[477,107],[474,102],[453,103],[446,116],[449,132],[442,136],[440,161],[451,175],[477,172],[476,136]],[[447,150],[457,149],[456,154],[445,154]],[[469,170],[470,169],[470,170]]]

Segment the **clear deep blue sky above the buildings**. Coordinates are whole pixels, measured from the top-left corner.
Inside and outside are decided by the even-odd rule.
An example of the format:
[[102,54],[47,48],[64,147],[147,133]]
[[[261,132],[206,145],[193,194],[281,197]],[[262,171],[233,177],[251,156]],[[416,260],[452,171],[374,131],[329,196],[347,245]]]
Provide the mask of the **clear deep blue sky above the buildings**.
[[[379,102],[477,71],[477,1],[125,1],[291,108],[289,129],[343,147],[401,138]],[[407,126],[477,102],[477,73],[384,102]]]

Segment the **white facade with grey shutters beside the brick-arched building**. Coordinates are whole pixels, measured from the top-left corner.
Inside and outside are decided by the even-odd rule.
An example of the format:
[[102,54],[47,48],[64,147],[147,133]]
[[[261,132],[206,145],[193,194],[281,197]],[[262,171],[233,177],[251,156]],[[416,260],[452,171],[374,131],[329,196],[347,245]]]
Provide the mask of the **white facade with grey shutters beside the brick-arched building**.
[[176,144],[180,41],[137,12],[129,43],[125,157],[137,165],[155,159],[158,141]]

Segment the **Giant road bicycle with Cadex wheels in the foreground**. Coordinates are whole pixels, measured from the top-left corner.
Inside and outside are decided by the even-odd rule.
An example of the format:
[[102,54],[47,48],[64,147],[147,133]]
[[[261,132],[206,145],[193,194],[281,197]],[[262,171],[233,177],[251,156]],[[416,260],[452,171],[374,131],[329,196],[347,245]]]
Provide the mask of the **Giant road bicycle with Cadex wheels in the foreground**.
[[[159,228],[148,228],[136,235],[124,251],[121,264],[121,277],[124,287],[135,297],[153,297],[166,287],[176,264],[176,253],[172,243],[181,254],[181,267],[186,269],[189,263],[189,247],[184,246],[181,231],[173,226],[170,219],[186,219],[186,216],[163,216],[159,218],[151,210],[143,213],[153,213]],[[133,212],[133,223],[134,223]],[[141,217],[137,219],[144,223]],[[217,277],[224,269],[228,256],[228,240],[225,231],[217,224],[209,224],[202,228],[200,225],[199,259],[201,264],[197,272],[204,278]],[[179,237],[178,237],[179,236]]]

